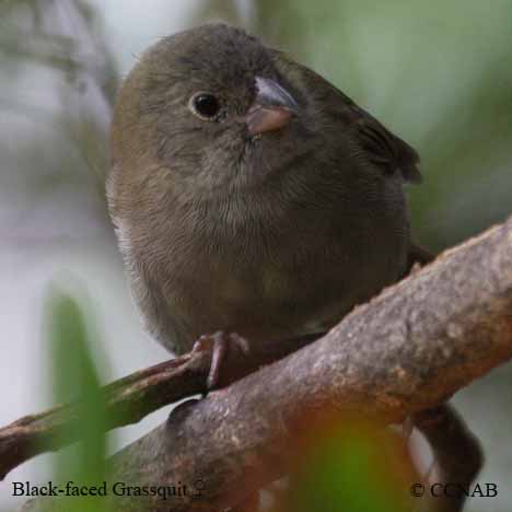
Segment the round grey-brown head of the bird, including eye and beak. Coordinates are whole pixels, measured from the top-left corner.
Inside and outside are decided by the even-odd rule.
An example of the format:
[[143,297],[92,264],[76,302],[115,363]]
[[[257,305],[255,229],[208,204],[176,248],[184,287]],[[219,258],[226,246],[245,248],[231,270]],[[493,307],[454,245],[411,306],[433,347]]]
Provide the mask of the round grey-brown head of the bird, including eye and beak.
[[307,97],[281,54],[238,28],[203,25],[160,40],[131,71],[113,160],[140,183],[156,174],[184,194],[232,193],[287,168],[311,132]]

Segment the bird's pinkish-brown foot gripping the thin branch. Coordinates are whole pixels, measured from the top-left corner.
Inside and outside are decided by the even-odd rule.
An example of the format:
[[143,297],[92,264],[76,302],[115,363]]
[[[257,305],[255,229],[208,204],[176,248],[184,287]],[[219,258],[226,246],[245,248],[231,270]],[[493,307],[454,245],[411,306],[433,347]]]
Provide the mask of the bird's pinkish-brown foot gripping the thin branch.
[[236,333],[224,333],[218,330],[211,335],[202,335],[193,347],[193,352],[211,350],[211,364],[207,377],[207,393],[214,389],[219,384],[220,369],[225,360],[229,350],[241,351],[244,356],[248,356],[248,341]]

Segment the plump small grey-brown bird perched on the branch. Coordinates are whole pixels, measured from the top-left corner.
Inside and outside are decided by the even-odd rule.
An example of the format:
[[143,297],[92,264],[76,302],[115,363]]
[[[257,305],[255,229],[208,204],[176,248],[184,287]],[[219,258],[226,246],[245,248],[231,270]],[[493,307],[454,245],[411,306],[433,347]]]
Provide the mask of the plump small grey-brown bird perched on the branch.
[[109,208],[146,326],[168,349],[324,333],[414,251],[417,153],[314,71],[224,24],[151,47],[125,81]]

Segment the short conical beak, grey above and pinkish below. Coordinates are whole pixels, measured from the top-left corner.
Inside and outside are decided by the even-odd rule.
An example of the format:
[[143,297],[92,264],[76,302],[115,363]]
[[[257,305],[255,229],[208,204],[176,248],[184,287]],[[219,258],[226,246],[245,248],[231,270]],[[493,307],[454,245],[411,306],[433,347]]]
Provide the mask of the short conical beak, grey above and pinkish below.
[[278,130],[299,112],[293,96],[270,79],[256,78],[256,97],[247,112],[245,123],[251,136]]

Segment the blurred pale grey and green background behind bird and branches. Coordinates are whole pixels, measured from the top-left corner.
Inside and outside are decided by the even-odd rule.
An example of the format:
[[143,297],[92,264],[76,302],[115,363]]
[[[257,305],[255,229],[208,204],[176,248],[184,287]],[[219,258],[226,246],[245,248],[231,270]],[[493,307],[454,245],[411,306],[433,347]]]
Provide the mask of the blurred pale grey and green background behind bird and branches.
[[[287,50],[419,151],[424,183],[408,193],[426,247],[512,213],[512,0],[0,0],[0,424],[53,403],[51,283],[89,298],[102,382],[168,357],[141,331],[107,217],[108,125],[137,56],[212,20]],[[509,364],[454,398],[487,455],[478,480],[499,486],[466,510],[512,508],[511,386]],[[10,481],[48,479],[51,457],[0,484],[0,510],[20,502]]]

